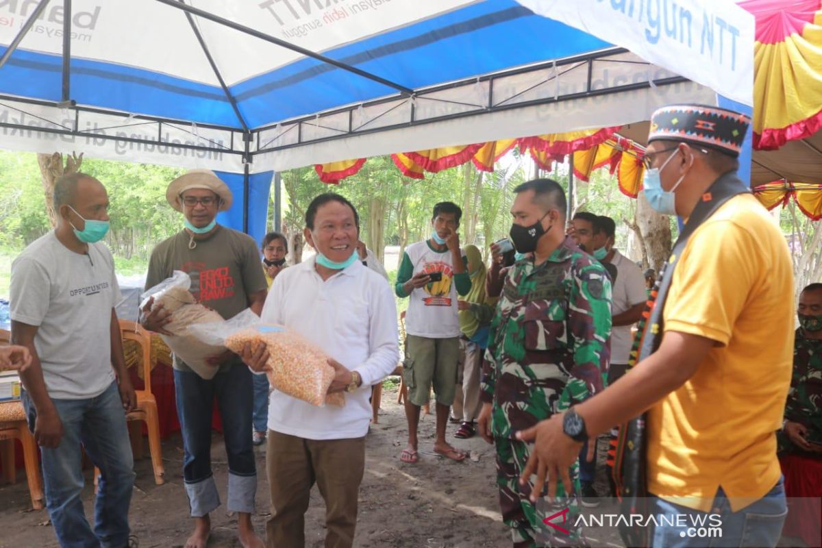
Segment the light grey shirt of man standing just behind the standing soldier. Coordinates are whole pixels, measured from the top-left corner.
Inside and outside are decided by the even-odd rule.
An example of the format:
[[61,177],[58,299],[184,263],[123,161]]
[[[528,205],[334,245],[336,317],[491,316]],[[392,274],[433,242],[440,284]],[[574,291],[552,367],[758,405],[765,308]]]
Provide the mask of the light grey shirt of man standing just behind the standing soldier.
[[[645,277],[642,270],[632,260],[614,250],[611,264],[617,267],[617,281],[613,284],[613,315],[621,314],[630,307],[646,302]],[[611,363],[626,364],[630,357],[633,338],[630,325],[614,326],[611,329]]]

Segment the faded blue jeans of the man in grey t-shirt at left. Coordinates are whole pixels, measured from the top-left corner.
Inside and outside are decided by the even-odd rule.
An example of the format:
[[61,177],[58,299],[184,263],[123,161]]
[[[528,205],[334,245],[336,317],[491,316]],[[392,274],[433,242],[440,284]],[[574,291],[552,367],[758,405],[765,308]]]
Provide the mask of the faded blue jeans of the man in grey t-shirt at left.
[[[22,394],[29,428],[35,431],[37,411],[29,394]],[[53,399],[62,438],[58,447],[40,448],[46,508],[62,548],[123,548],[128,544],[128,507],[134,486],[134,458],[128,440],[126,413],[117,383],[86,399]],[[81,493],[85,481],[85,449],[100,470],[95,500],[95,529],[85,519]]]

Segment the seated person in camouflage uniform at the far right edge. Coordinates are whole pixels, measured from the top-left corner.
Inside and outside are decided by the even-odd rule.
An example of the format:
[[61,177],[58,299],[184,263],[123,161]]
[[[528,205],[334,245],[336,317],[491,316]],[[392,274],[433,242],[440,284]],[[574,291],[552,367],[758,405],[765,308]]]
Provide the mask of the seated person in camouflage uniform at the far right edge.
[[793,347],[793,376],[787,394],[779,453],[822,456],[822,283],[799,297],[799,323]]

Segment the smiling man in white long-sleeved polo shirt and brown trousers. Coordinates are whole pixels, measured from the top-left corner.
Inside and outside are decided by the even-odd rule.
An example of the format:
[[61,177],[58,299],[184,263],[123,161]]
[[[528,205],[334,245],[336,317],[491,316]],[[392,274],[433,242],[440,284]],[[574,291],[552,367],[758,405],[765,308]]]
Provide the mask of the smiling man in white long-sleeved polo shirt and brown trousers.
[[[316,344],[336,375],[329,394],[345,406],[316,407],[277,390],[270,396],[266,463],[272,516],[266,546],[302,547],[304,514],[316,481],[326,501],[326,546],[353,546],[371,386],[399,360],[397,311],[386,279],[359,260],[357,210],[343,196],[317,196],[306,212],[306,241],[316,256],[277,276],[263,306],[266,323]],[[242,358],[264,371],[265,345]]]

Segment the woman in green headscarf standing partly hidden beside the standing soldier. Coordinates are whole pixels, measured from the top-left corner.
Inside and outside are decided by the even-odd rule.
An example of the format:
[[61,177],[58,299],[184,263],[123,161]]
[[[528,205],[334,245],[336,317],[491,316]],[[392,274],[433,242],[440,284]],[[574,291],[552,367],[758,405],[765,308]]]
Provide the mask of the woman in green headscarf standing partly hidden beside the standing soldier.
[[457,383],[451,421],[461,422],[457,438],[470,438],[476,433],[474,421],[479,415],[479,383],[483,371],[483,354],[488,343],[488,326],[494,315],[496,297],[487,297],[485,279],[487,268],[477,246],[465,246],[471,291],[459,301],[459,349],[462,364],[459,368],[462,385]]

